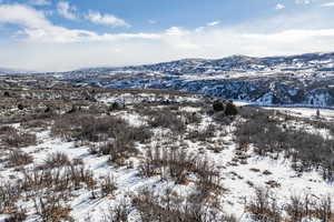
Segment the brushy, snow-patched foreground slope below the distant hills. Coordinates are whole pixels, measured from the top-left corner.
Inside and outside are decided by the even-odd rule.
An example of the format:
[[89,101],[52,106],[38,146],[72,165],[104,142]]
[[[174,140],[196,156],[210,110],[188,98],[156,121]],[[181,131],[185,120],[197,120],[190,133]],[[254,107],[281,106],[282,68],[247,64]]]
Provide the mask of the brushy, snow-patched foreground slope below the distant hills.
[[26,88],[0,93],[1,222],[334,219],[331,111]]

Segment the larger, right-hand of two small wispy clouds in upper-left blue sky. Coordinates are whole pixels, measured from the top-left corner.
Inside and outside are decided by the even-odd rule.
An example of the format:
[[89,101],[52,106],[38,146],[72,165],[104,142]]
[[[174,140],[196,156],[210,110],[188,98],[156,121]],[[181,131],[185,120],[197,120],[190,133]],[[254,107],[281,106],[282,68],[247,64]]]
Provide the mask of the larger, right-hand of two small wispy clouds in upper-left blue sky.
[[97,11],[89,11],[86,16],[86,19],[97,23],[97,24],[106,24],[111,27],[130,27],[125,20],[115,17],[114,14],[102,14]]

